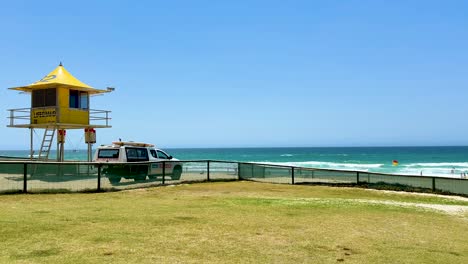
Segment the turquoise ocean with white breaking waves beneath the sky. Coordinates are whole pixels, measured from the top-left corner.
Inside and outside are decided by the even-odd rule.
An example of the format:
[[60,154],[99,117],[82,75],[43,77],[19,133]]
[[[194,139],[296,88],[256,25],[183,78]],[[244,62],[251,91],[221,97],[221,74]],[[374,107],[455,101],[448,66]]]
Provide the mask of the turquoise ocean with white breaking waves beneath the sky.
[[[468,147],[327,147],[327,148],[191,148],[165,149],[180,160],[226,160],[310,168],[445,176],[468,174]],[[28,151],[0,156],[27,157]],[[54,157],[51,152],[51,156]],[[86,150],[65,151],[67,160],[86,160]],[[392,161],[398,160],[398,166]]]

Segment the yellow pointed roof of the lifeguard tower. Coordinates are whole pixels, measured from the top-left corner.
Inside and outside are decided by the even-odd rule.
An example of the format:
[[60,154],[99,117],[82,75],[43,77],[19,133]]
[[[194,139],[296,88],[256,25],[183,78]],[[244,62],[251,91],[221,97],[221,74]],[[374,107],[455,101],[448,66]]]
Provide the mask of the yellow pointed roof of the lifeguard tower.
[[57,66],[57,68],[55,68],[53,71],[51,71],[44,78],[40,79],[37,82],[34,82],[30,85],[13,87],[9,89],[23,92],[31,92],[35,89],[53,88],[57,86],[66,86],[70,89],[86,91],[90,94],[108,92],[107,90],[95,89],[76,79],[71,73],[69,73],[65,69],[65,67],[63,67],[62,63],[60,63],[60,65]]

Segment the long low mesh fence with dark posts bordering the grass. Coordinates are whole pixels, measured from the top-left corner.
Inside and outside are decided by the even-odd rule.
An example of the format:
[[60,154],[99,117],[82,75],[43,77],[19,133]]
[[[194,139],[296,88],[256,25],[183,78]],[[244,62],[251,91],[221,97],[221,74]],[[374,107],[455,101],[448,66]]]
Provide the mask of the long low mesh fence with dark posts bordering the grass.
[[316,169],[251,162],[185,160],[97,163],[0,161],[0,192],[86,192],[184,182],[251,180],[283,184],[358,185],[468,196],[468,180]]

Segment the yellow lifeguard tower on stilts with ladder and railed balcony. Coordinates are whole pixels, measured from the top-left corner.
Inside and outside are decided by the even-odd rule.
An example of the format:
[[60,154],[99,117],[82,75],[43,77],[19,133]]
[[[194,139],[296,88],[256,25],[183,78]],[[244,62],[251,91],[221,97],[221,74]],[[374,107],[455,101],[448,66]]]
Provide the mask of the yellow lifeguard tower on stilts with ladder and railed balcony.
[[107,128],[109,113],[106,110],[91,110],[90,96],[113,91],[95,89],[79,81],[60,63],[52,72],[39,81],[26,86],[9,88],[31,94],[31,107],[9,109],[8,127],[29,128],[30,157],[33,158],[34,129],[43,129],[44,136],[37,158],[49,160],[50,149],[57,132],[57,161],[64,160],[64,144],[67,129],[84,129],[88,144],[88,161],[91,160],[92,144],[96,143],[95,128]]

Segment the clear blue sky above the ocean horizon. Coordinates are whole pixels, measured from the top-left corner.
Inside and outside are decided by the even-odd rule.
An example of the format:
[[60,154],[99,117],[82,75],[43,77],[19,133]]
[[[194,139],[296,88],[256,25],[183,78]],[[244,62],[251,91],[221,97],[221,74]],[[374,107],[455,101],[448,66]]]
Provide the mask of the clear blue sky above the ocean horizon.
[[[6,1],[0,98],[60,61],[161,147],[468,145],[467,1]],[[0,127],[0,149],[28,130]],[[79,145],[82,132],[70,132]],[[36,142],[40,137],[35,138]],[[79,145],[84,148],[85,145]]]

